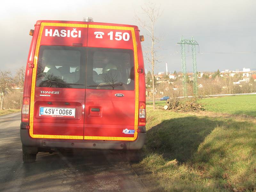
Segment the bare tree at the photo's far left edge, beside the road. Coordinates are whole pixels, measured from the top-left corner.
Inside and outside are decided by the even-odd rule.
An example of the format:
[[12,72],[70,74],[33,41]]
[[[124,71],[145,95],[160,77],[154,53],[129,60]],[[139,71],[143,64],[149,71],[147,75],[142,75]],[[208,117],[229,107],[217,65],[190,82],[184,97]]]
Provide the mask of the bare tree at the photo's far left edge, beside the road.
[[4,96],[12,90],[12,77],[10,71],[0,70],[0,110],[4,109]]

